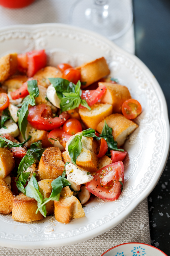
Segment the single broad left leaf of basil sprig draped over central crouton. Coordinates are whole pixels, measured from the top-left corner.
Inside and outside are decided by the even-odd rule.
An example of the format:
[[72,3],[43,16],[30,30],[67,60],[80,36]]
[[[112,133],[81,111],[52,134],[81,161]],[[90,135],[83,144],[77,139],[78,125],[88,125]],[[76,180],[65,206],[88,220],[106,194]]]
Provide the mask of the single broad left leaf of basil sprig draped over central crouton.
[[68,144],[68,152],[73,164],[76,165],[76,159],[82,151],[82,133],[73,137],[73,139]]

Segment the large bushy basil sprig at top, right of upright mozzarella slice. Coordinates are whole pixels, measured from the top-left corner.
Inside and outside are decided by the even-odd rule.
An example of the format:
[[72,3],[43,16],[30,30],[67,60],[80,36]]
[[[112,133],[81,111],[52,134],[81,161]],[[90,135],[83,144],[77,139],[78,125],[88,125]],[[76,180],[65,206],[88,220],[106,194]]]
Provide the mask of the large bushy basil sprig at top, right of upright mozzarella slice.
[[80,104],[91,110],[87,101],[81,98],[82,90],[80,89],[80,81],[76,85],[63,78],[49,78],[49,81],[52,83],[58,98],[61,100],[61,112],[78,108]]

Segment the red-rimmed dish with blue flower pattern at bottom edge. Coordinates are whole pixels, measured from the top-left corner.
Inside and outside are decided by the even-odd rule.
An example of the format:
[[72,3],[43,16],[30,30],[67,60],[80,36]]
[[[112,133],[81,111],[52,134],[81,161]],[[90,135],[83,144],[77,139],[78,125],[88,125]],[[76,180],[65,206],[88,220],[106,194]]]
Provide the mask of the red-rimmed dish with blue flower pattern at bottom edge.
[[142,243],[126,243],[105,251],[101,256],[168,256],[160,249]]

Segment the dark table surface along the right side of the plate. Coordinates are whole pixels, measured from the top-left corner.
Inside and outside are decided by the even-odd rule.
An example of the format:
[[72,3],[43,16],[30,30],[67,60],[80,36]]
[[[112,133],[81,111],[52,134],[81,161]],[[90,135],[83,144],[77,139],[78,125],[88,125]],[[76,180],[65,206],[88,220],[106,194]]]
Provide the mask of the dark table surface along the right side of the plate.
[[[170,0],[133,0],[133,8],[136,55],[160,83],[170,117]],[[148,209],[151,245],[170,256],[170,155]]]

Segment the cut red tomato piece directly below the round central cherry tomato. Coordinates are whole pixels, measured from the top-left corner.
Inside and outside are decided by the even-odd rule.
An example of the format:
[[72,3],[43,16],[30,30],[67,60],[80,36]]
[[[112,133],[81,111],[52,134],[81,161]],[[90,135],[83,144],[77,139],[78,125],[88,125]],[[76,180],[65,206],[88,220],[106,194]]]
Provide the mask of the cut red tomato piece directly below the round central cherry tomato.
[[[67,122],[67,121],[66,121]],[[54,144],[55,140],[58,139],[60,144],[65,148],[66,147],[66,142],[68,141],[68,139],[71,137],[71,135],[67,134],[66,132],[63,131],[63,129],[60,128],[56,128],[54,130],[52,130],[49,134],[48,134],[48,139],[49,141]],[[52,140],[52,139],[55,140]]]

